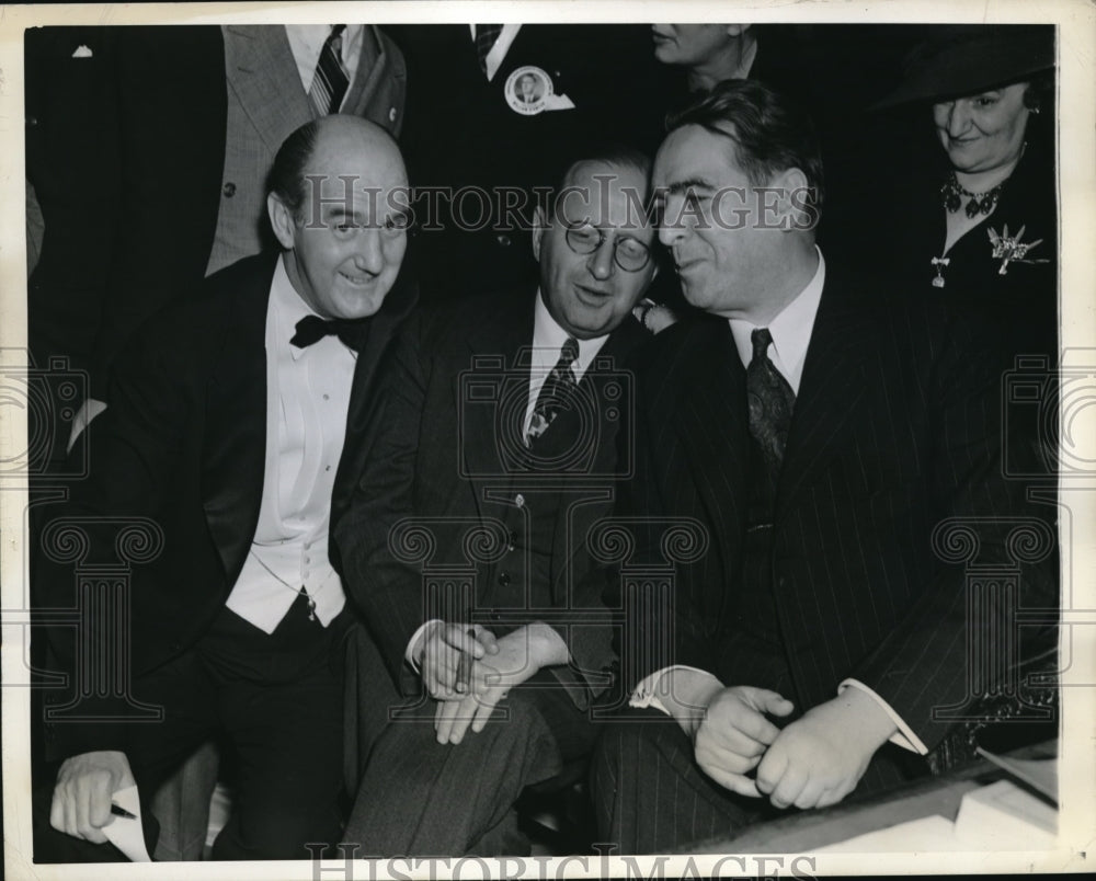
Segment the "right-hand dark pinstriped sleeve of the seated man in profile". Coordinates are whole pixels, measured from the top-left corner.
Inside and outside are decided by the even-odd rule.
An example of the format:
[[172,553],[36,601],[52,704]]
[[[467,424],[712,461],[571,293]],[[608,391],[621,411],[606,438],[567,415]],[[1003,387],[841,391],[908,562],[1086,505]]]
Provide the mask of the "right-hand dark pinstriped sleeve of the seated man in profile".
[[[1049,627],[1015,628],[1016,611],[1058,604],[1053,510],[1027,501],[1027,482],[1005,474],[1002,465],[1006,445],[1030,446],[1023,426],[1003,422],[1004,361],[973,325],[954,322],[950,330],[928,392],[938,402],[929,472],[938,517],[932,546],[924,549],[933,554],[932,577],[898,626],[850,673],[928,750],[948,733],[957,710],[997,694],[1006,675],[1017,675],[1053,640]],[[975,567],[986,573],[1017,571],[1016,551],[1024,544],[1032,551],[1020,553],[1026,562],[1018,568],[1015,593],[1006,586],[1007,574],[977,574]],[[1038,545],[1044,550],[1035,551]],[[1019,630],[1030,631],[1023,642]],[[991,656],[1000,663],[980,671]]]

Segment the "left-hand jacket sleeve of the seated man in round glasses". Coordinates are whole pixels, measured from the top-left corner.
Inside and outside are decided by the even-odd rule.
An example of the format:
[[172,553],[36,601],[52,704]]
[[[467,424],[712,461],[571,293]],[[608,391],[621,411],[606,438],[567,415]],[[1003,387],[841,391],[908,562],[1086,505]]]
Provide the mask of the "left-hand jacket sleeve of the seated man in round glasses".
[[393,553],[389,537],[414,514],[415,460],[425,427],[421,333],[422,322],[412,316],[386,368],[378,391],[385,405],[369,427],[370,455],[334,536],[346,591],[365,615],[397,685],[408,690],[416,677],[404,665],[404,652],[424,620],[423,580],[419,567]]

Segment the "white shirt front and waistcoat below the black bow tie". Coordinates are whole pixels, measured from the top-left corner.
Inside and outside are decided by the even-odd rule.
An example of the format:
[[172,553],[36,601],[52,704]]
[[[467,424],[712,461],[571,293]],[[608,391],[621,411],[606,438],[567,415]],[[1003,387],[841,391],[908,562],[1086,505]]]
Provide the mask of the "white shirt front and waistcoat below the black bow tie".
[[290,345],[312,310],[279,260],[266,309],[266,451],[259,524],[226,605],[272,633],[301,587],[327,627],[346,603],[328,561],[331,490],[346,433],[356,354],[335,336]]

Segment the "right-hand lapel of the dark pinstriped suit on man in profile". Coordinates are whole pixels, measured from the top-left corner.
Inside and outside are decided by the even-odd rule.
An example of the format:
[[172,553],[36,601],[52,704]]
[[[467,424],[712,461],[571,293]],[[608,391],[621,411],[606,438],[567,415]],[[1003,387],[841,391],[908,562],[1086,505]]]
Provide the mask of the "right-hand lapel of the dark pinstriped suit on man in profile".
[[867,385],[865,363],[872,344],[865,310],[841,302],[827,282],[788,433],[778,510],[841,448],[842,428]]

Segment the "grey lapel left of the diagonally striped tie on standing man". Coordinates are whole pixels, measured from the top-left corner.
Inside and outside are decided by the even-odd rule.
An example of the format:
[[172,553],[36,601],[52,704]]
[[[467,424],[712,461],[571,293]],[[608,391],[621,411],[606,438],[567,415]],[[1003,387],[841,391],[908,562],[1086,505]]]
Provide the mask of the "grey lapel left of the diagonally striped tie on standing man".
[[286,133],[297,127],[296,121],[316,115],[281,25],[226,25],[225,66],[230,75],[229,88],[271,156],[277,152]]

